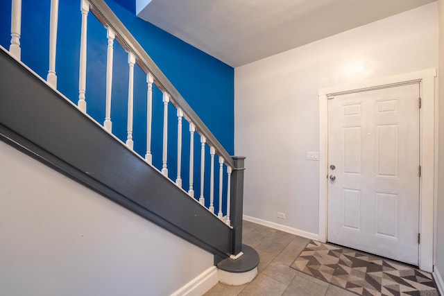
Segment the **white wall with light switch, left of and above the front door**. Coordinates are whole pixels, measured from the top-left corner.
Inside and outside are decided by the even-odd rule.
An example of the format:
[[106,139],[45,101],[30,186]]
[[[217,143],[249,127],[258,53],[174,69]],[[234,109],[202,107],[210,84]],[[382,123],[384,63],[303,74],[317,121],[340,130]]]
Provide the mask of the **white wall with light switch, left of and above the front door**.
[[319,149],[318,89],[436,67],[436,10],[431,3],[235,69],[244,214],[318,234],[319,164],[306,160]]

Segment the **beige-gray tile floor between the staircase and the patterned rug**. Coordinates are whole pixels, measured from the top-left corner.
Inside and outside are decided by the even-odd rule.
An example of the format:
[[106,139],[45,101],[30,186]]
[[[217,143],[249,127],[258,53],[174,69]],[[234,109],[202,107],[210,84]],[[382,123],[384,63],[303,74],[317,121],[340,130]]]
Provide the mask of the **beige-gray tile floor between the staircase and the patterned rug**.
[[254,247],[259,253],[259,274],[253,281],[242,286],[216,284],[205,296],[355,295],[290,268],[309,239],[248,221],[244,221],[243,238],[246,245]]

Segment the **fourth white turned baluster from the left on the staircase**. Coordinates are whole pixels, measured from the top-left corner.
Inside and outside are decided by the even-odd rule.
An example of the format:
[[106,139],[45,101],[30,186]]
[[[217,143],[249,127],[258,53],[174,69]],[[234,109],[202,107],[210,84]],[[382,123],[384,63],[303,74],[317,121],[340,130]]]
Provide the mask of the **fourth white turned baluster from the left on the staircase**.
[[110,26],[105,26],[106,37],[108,38],[108,53],[106,56],[106,107],[105,107],[105,122],[103,126],[108,132],[112,132],[111,122],[111,92],[112,92],[112,58],[114,55],[114,38],[116,34],[112,31]]

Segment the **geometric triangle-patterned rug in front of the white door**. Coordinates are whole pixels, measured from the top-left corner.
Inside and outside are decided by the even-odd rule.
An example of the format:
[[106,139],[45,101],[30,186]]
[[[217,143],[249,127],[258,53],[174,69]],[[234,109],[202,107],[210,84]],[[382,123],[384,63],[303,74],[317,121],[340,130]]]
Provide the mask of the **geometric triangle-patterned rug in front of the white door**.
[[439,295],[429,272],[318,241],[310,241],[291,268],[358,295]]

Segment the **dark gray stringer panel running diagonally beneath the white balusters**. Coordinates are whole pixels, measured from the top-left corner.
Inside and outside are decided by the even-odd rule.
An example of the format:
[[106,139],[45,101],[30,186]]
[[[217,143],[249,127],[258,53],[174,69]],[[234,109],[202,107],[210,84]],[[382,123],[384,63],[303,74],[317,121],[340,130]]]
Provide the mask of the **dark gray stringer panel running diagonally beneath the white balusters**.
[[0,51],[0,139],[169,232],[226,257],[232,229]]

